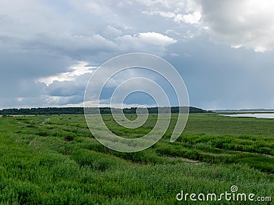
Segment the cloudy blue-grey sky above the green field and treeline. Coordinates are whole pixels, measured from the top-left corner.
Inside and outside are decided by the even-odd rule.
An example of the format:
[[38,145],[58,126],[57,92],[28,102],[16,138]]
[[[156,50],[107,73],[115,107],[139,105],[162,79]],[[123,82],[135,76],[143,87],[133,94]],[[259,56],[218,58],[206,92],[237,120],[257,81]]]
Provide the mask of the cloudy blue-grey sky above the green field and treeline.
[[[274,1],[0,3],[0,109],[83,106],[92,72],[135,52],[169,61],[191,106],[274,109]],[[135,72],[118,75],[106,90]],[[137,76],[153,78],[141,69]],[[145,105],[144,98],[126,103]]]

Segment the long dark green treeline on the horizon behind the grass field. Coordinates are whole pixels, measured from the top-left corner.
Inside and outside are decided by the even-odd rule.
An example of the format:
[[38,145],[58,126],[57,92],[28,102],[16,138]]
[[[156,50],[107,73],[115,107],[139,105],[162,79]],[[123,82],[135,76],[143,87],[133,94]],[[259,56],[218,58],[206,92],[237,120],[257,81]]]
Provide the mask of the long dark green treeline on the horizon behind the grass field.
[[[90,110],[95,108],[90,108]],[[136,113],[136,107],[125,108],[123,113]],[[158,113],[168,110],[169,107],[158,108],[149,107],[147,110],[149,113]],[[188,107],[181,107],[181,112],[186,112]],[[114,109],[114,111],[118,109]],[[102,114],[110,114],[110,107],[100,107]],[[141,109],[142,112],[142,109]],[[197,107],[189,107],[189,113],[206,113],[208,111],[199,109]],[[171,107],[171,113],[179,113],[179,107]],[[0,111],[0,115],[57,115],[57,114],[84,114],[84,107],[47,107],[47,108],[30,108],[30,109],[3,109]]]

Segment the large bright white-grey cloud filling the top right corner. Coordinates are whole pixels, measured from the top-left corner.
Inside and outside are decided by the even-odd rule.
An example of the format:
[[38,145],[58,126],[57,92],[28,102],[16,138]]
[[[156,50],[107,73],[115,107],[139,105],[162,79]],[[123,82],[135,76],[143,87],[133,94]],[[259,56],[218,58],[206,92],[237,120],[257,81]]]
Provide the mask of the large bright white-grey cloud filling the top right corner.
[[274,48],[274,1],[196,1],[212,40],[256,52]]

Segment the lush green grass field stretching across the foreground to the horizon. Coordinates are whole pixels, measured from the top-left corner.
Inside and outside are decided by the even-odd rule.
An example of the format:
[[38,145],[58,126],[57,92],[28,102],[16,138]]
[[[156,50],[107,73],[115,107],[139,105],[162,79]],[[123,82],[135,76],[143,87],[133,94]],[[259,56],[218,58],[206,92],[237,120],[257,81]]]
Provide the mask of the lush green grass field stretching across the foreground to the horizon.
[[[151,131],[157,115],[134,130],[103,119],[121,137]],[[135,119],[136,115],[127,115]],[[90,133],[84,115],[0,118],[1,204],[274,204],[191,202],[177,193],[238,193],[274,200],[274,120],[190,114],[177,141],[169,131],[142,152],[115,152]],[[256,198],[254,197],[254,198]]]

